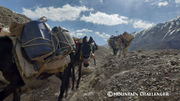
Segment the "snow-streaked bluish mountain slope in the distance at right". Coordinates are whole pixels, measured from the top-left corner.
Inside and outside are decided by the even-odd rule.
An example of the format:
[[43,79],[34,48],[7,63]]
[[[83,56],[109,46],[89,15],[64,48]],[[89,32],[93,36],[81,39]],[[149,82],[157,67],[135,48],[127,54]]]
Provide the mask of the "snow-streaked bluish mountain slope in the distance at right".
[[180,49],[180,16],[134,34],[129,50]]

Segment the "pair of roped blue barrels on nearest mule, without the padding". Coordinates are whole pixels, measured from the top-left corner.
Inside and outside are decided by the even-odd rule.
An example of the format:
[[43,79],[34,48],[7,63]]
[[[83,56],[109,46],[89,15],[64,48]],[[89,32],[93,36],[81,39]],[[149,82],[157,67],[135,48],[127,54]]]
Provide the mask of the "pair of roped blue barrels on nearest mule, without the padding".
[[54,27],[51,31],[47,24],[41,21],[27,23],[21,40],[28,57],[36,61],[45,59],[54,52],[67,56],[75,46],[69,31],[61,27]]

